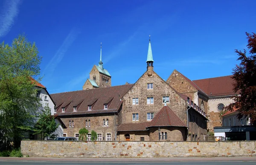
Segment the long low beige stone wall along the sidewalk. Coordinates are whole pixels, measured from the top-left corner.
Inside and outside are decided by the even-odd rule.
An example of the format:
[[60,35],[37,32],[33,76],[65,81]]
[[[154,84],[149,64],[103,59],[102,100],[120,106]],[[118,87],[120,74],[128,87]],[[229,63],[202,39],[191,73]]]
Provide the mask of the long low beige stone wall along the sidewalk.
[[21,152],[49,157],[255,156],[256,141],[233,142],[82,142],[21,141]]

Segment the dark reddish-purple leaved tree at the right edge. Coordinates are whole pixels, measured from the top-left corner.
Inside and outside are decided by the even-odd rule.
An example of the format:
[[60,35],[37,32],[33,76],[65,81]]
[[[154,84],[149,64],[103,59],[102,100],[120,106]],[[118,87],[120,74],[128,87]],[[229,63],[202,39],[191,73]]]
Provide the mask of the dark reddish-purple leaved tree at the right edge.
[[246,50],[235,50],[239,55],[239,65],[233,69],[233,91],[239,92],[235,103],[230,104],[226,109],[237,108],[238,118],[250,118],[250,122],[256,124],[256,34],[246,33],[250,56],[246,56]]

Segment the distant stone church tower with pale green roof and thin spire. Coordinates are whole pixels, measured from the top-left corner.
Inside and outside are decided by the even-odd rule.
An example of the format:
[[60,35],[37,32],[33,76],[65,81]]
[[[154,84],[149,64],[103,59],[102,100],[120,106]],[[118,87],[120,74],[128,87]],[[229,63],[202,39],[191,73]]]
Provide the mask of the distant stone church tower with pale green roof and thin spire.
[[93,65],[90,71],[90,78],[83,85],[83,90],[92,88],[111,87],[111,75],[103,68],[102,62],[102,43],[100,43],[99,65]]

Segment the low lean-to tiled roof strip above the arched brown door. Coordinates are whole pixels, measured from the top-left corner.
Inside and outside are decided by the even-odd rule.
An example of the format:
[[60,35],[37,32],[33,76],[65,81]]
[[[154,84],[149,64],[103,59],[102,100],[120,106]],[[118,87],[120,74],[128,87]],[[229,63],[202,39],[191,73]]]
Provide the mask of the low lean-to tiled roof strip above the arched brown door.
[[149,122],[141,123],[123,123],[119,125],[116,131],[147,131],[146,127]]

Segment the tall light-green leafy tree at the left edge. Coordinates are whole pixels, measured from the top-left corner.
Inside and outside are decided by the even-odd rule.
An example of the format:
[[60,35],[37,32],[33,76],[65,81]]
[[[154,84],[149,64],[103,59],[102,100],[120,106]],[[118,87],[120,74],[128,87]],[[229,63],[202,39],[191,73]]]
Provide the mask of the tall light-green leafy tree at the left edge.
[[[40,105],[34,88],[41,57],[35,43],[19,35],[12,45],[0,43],[0,141],[19,147],[24,131],[31,130]],[[2,143],[2,144],[3,144]]]

